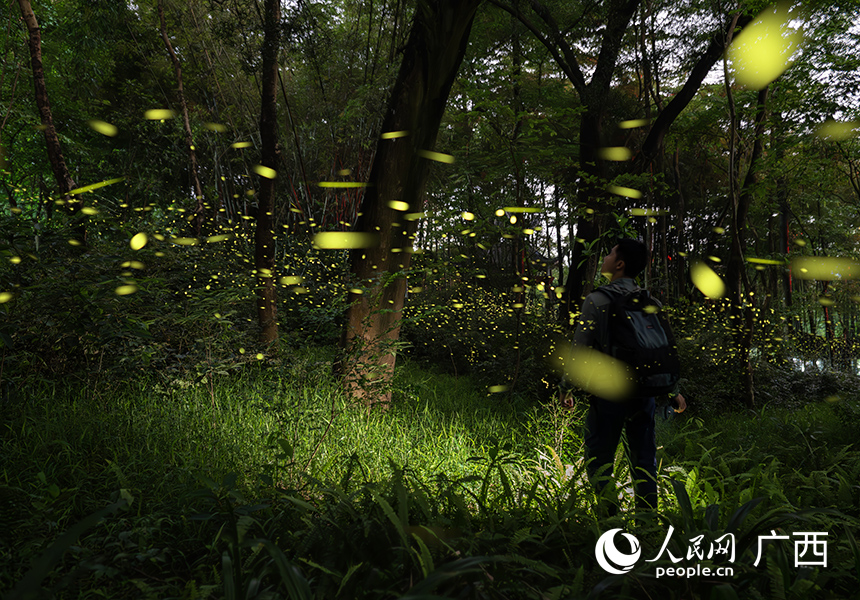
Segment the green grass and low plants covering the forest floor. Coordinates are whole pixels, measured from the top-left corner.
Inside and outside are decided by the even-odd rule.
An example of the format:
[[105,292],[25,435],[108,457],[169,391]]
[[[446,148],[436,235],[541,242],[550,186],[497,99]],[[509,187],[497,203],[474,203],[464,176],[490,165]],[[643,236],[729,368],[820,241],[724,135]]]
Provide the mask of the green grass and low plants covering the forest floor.
[[[658,422],[663,520],[634,524],[594,511],[582,410],[406,362],[394,404],[368,413],[340,393],[332,358],[306,348],[230,372],[20,390],[0,426],[0,589],[36,577],[34,564],[44,578],[26,589],[59,598],[553,598],[601,586],[606,597],[826,598],[860,575],[845,534],[860,525],[851,401]],[[607,579],[594,561],[611,527],[659,548],[669,523],[692,537],[733,518],[746,538],[832,531],[833,567],[798,573],[774,556],[753,569],[745,554],[719,588],[645,569]],[[65,551],[53,562],[52,548]]]

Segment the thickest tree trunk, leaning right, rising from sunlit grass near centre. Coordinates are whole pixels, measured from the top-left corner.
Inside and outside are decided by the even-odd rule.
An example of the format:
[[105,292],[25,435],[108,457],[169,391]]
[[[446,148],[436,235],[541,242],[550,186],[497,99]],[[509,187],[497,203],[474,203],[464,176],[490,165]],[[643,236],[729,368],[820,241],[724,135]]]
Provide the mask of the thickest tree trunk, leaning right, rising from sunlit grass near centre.
[[372,248],[352,250],[351,271],[366,291],[350,293],[341,371],[347,390],[367,405],[387,404],[400,336],[417,220],[428,159],[451,85],[466,52],[480,0],[420,0],[392,90],[356,231],[378,236]]

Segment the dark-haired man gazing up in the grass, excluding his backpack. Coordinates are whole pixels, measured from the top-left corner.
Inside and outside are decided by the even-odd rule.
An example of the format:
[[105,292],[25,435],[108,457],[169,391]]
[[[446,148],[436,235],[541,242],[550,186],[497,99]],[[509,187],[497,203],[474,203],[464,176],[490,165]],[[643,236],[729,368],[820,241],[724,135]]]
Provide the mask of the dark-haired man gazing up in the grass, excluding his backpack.
[[[642,242],[622,239],[603,259],[600,272],[609,278],[609,284],[589,294],[574,333],[574,346],[589,347],[611,354],[610,306],[613,298],[640,290],[634,278],[648,264],[648,248]],[[674,384],[670,396],[677,398],[677,412],[686,407],[684,396],[677,393]],[[638,509],[657,508],[657,442],[654,432],[656,398],[632,397],[623,401],[610,401],[589,397],[588,416],[585,421],[585,447],[587,472],[598,494],[611,479],[615,451],[626,434],[625,452],[636,490]],[[612,502],[608,507],[615,514]]]

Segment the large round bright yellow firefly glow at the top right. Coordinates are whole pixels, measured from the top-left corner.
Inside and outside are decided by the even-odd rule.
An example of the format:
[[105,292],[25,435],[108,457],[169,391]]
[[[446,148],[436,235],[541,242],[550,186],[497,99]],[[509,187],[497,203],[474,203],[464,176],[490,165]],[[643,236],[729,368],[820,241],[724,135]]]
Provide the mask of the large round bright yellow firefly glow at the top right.
[[782,75],[791,54],[803,40],[803,33],[788,28],[786,5],[770,7],[747,25],[729,47],[729,59],[738,83],[760,90]]

